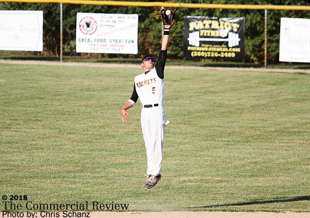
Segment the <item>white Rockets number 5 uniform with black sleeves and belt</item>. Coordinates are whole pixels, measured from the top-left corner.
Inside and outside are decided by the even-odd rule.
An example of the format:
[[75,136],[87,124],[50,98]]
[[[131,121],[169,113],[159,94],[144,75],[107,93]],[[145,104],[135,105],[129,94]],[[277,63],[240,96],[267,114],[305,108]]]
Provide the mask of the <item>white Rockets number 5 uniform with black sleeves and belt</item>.
[[147,175],[159,175],[162,166],[166,120],[164,108],[164,68],[167,50],[160,51],[159,60],[148,72],[135,77],[130,102],[138,97],[142,103],[141,127],[147,155]]

